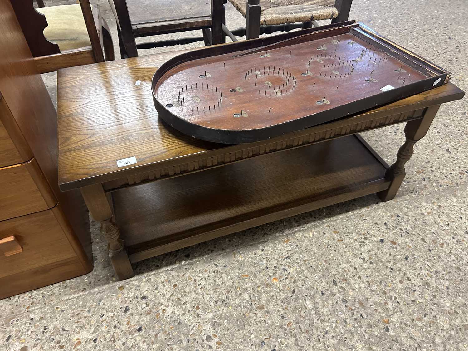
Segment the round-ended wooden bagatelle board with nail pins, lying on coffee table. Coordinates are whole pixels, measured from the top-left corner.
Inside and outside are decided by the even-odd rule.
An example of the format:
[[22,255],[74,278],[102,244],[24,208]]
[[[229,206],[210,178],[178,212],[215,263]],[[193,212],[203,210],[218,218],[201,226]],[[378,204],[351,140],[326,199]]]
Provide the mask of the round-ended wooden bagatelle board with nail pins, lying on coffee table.
[[159,116],[212,142],[270,139],[414,95],[450,73],[355,22],[179,55],[152,80]]

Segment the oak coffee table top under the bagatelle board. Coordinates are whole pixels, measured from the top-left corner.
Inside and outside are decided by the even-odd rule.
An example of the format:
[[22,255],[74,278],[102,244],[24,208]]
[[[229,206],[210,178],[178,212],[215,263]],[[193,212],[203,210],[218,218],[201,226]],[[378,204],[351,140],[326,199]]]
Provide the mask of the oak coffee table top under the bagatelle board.
[[[183,163],[194,155],[206,157],[210,153],[230,148],[236,151],[238,146],[191,138],[158,118],[151,95],[153,74],[163,62],[186,51],[190,50],[59,70],[61,190],[143,173],[168,162]],[[366,114],[387,116],[456,100],[461,96],[463,92],[449,83],[342,120]],[[284,139],[285,136],[278,138]],[[261,143],[243,144],[243,148]],[[136,163],[117,167],[117,160],[133,156]]]

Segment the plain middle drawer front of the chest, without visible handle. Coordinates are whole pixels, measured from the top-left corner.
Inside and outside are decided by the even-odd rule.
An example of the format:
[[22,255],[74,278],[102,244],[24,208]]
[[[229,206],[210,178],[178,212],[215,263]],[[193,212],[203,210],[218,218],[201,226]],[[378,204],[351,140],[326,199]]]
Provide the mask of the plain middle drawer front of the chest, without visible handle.
[[[49,196],[46,196],[47,202],[44,199],[43,193],[48,194],[48,186],[38,169],[34,159],[0,168],[0,220],[44,211],[57,204]],[[42,193],[35,180],[44,188]]]

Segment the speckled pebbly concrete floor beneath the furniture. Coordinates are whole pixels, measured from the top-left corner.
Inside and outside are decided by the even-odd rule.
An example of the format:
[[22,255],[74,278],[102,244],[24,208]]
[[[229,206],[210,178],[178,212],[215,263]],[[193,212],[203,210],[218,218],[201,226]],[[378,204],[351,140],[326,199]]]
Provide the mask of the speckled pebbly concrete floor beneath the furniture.
[[[107,2],[92,2],[118,46]],[[355,0],[350,18],[467,90],[467,1],[408,3]],[[243,23],[228,5],[227,26]],[[55,74],[44,80],[55,100]],[[123,282],[93,223],[94,271],[1,300],[0,350],[468,350],[467,101],[440,108],[387,203],[362,197],[181,249]],[[363,136],[392,163],[403,125]]]

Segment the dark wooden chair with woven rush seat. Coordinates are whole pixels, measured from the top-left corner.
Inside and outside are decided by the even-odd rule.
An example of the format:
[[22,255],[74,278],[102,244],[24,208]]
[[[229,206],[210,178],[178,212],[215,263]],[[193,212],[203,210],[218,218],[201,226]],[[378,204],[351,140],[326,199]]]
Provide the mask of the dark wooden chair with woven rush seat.
[[[332,23],[347,21],[352,0],[229,0],[229,2],[246,18],[245,35],[247,39],[253,39],[267,33],[264,29],[271,26],[302,22],[302,28],[310,28],[313,25],[318,27],[316,21],[319,20],[331,19]],[[290,30],[297,26],[285,28]]]

